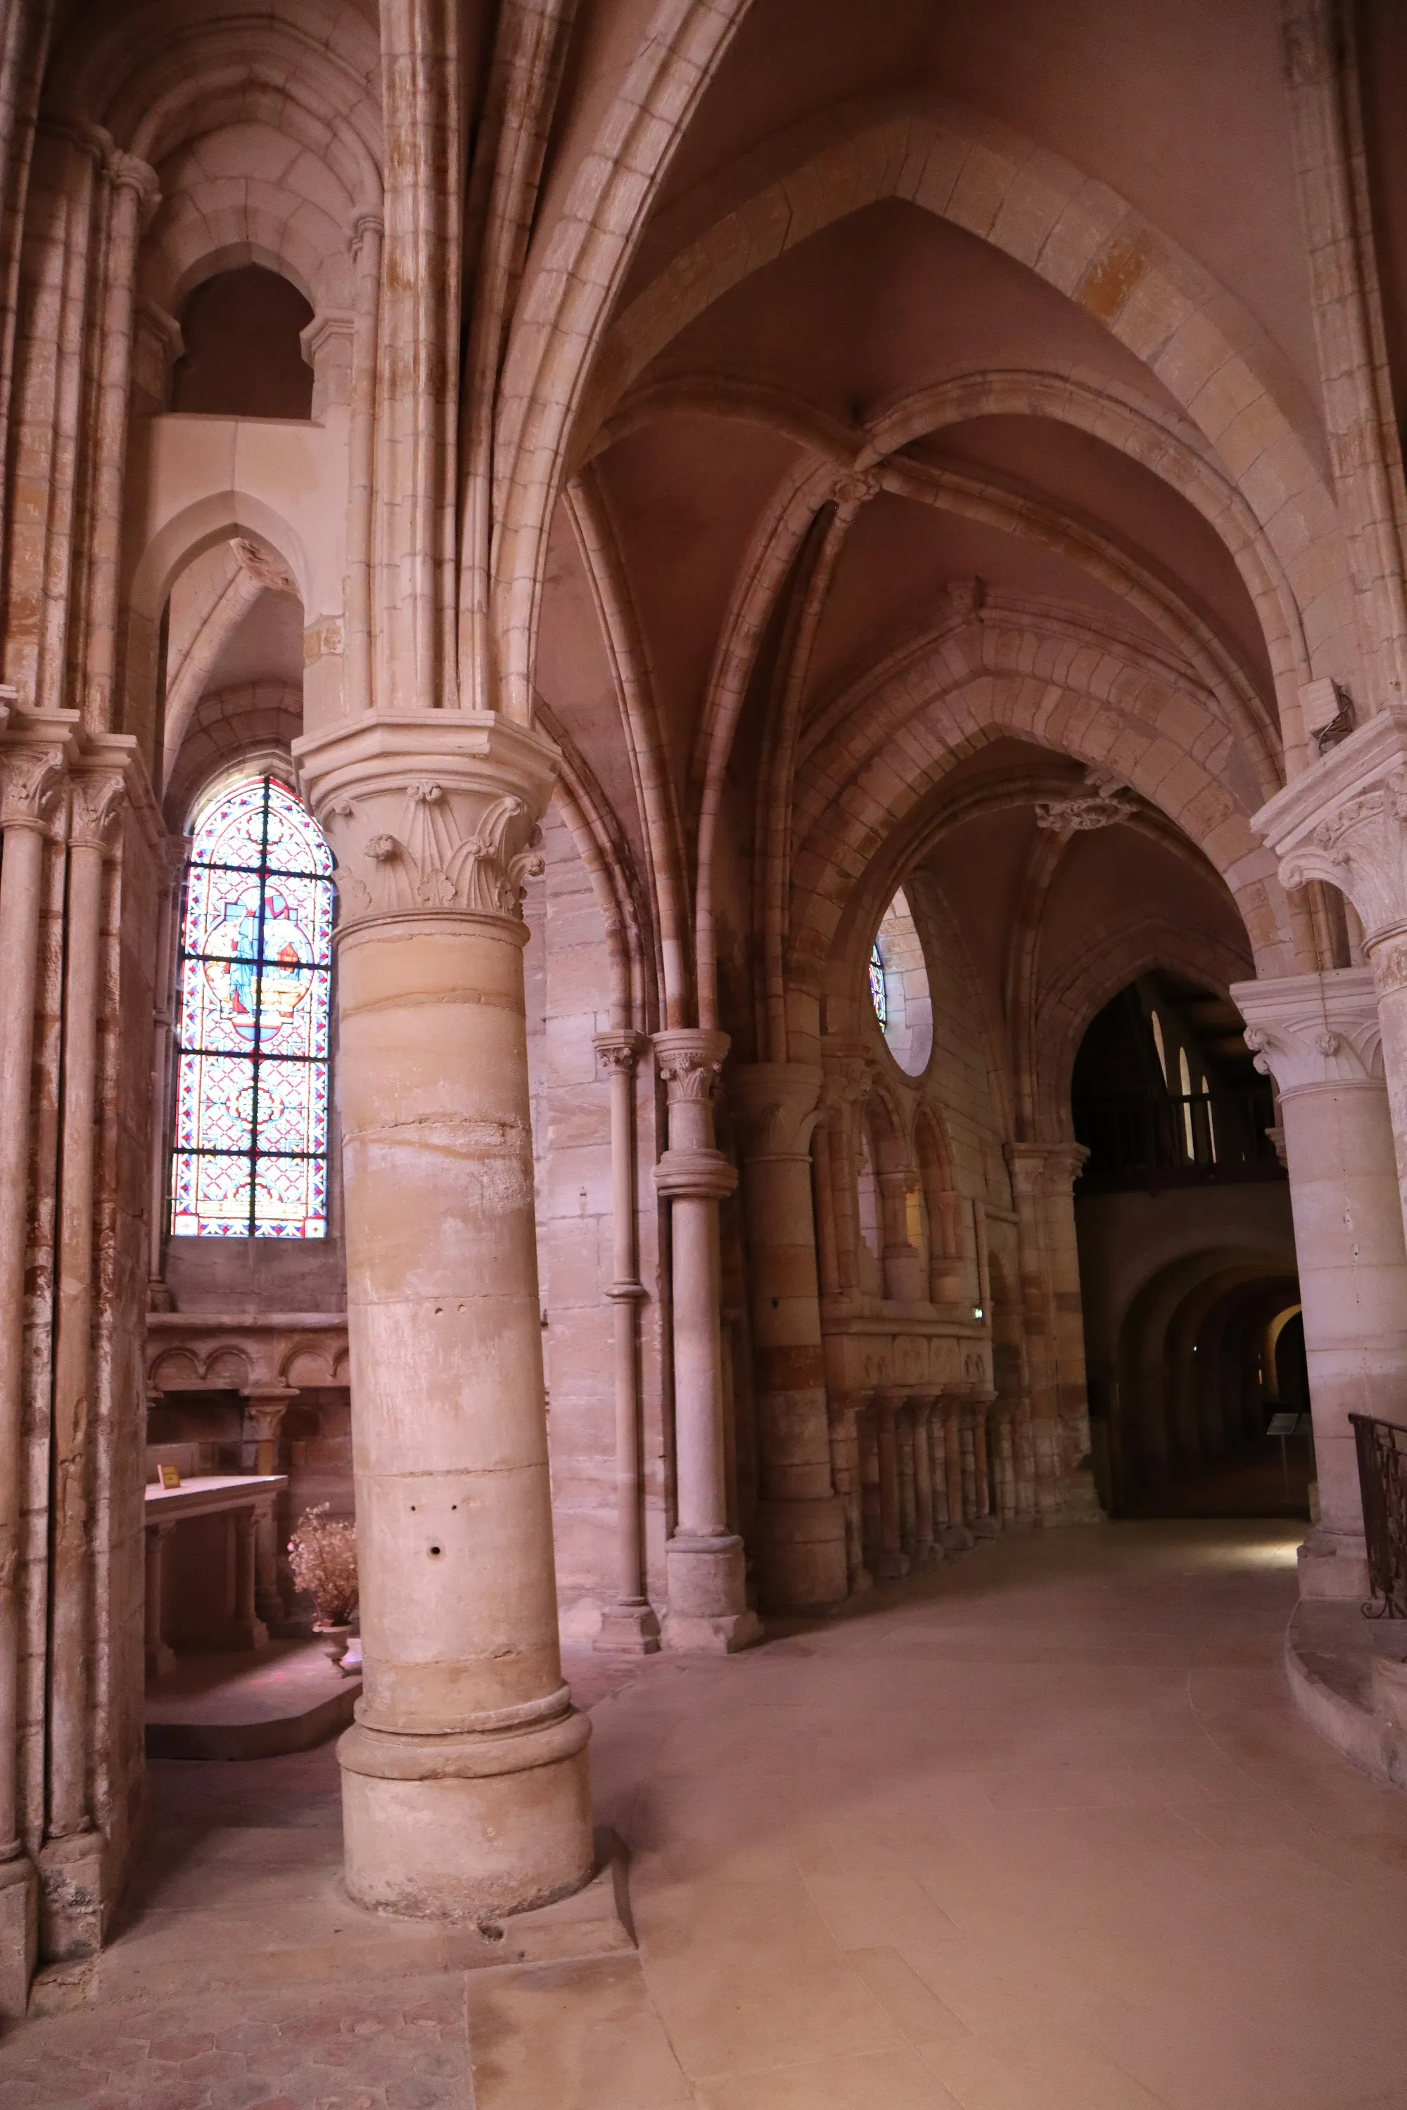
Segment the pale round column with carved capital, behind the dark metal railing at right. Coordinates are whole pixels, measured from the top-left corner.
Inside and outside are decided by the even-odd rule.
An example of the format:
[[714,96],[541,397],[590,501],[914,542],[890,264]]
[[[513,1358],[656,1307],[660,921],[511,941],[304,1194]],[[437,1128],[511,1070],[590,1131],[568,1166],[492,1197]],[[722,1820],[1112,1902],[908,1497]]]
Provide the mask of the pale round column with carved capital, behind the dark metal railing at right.
[[1274,1076],[1304,1304],[1321,1521],[1306,1597],[1367,1597],[1350,1414],[1407,1420],[1407,1247],[1371,968],[1238,981],[1255,1068]]

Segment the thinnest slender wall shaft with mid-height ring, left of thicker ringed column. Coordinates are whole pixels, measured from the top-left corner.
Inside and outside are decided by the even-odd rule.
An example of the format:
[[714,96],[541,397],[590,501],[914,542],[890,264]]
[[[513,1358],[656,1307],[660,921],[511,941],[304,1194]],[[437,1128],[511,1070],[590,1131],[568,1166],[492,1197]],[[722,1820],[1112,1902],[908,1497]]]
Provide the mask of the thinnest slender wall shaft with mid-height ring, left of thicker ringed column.
[[645,1540],[639,1471],[639,1236],[635,1222],[635,1063],[643,1034],[597,1034],[597,1061],[612,1095],[612,1283],[616,1350],[616,1601],[601,1614],[597,1648],[650,1656],[660,1623],[645,1595]]

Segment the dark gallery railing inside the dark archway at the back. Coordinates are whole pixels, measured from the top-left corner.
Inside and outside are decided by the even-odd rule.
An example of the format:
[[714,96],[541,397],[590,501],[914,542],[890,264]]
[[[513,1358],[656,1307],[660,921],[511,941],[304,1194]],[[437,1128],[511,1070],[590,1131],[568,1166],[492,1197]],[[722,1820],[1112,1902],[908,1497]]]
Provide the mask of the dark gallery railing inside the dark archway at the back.
[[1110,1093],[1076,1099],[1076,1139],[1088,1150],[1082,1188],[1213,1186],[1280,1179],[1266,1133],[1274,1123],[1270,1089]]

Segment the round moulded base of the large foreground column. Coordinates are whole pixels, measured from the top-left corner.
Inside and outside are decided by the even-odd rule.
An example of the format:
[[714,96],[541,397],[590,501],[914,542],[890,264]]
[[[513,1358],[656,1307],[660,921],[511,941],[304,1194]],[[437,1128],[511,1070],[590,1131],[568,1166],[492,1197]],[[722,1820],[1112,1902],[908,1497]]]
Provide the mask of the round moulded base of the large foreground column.
[[401,1737],[356,1722],[338,1743],[346,1886],[418,1920],[483,1920],[591,1882],[591,1724],[574,1707],[525,1730]]

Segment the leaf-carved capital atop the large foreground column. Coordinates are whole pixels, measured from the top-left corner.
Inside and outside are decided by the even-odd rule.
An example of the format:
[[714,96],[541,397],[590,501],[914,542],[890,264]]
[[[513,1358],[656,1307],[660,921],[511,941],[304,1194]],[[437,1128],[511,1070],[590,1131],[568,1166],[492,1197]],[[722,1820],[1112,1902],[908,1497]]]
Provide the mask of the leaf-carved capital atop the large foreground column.
[[521,922],[557,753],[489,711],[367,711],[295,741],[342,931],[405,916]]

